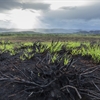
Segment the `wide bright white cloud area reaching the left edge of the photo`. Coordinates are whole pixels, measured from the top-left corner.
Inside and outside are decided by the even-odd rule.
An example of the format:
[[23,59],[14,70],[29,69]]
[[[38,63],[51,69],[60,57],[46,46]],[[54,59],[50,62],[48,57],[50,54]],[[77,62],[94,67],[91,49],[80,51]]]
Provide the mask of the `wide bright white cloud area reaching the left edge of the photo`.
[[8,14],[0,14],[1,27],[5,28],[32,29],[41,26],[45,27],[41,19],[41,12],[32,9],[13,9]]

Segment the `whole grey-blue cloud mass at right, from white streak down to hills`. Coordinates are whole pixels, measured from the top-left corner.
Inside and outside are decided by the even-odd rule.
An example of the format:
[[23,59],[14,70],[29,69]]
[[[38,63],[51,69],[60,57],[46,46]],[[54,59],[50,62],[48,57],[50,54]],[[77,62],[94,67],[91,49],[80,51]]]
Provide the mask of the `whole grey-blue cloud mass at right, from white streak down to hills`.
[[100,29],[100,2],[80,7],[61,7],[43,13],[50,28]]

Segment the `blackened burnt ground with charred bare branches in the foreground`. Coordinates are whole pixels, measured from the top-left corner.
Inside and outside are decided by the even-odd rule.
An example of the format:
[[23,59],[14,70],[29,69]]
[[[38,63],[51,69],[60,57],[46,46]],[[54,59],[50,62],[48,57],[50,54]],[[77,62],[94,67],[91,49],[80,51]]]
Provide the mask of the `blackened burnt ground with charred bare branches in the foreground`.
[[75,56],[62,67],[38,58],[0,55],[0,100],[100,100],[100,64]]

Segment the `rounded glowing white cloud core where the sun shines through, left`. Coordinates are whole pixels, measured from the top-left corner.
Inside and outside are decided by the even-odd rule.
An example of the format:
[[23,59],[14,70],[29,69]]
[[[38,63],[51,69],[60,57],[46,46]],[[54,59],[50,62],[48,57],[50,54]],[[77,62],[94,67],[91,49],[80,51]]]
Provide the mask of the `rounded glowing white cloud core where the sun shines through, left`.
[[21,29],[32,29],[39,27],[40,21],[38,17],[41,16],[38,12],[31,12],[30,10],[14,9],[11,11],[11,22]]

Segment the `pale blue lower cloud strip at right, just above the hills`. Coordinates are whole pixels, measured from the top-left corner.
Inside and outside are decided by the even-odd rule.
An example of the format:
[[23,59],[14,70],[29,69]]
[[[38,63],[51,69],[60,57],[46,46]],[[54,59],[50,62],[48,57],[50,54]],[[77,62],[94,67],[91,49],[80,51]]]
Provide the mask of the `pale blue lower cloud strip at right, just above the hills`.
[[48,23],[48,28],[63,28],[63,29],[100,29],[100,19],[70,19],[70,20],[54,20],[54,19],[45,19],[44,23]]

